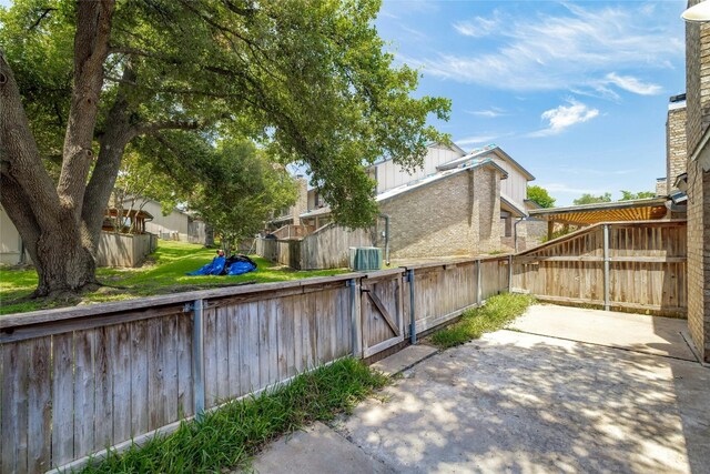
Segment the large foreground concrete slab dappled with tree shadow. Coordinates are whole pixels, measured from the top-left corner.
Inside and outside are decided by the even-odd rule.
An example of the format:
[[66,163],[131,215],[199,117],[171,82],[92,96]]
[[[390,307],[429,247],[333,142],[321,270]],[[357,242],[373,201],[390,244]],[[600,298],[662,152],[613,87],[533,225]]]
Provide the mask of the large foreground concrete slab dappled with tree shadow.
[[402,472],[708,472],[697,371],[499,331],[419,364],[342,432]]

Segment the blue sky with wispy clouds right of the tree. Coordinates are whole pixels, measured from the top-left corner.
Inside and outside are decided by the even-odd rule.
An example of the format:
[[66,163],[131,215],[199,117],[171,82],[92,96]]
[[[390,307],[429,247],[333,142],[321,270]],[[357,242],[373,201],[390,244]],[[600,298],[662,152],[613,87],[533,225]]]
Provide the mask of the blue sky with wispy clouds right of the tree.
[[436,123],[465,150],[496,143],[557,199],[652,191],[666,114],[684,91],[684,0],[385,0],[376,21]]

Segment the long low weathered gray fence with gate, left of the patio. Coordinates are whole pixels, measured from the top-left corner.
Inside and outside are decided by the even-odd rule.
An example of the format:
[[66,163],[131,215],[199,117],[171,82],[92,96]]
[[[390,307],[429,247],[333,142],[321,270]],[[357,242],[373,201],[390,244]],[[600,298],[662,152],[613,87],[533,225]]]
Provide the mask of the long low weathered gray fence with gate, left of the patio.
[[508,275],[499,256],[3,316],[0,472],[80,464],[316,365],[415,341],[508,290]]

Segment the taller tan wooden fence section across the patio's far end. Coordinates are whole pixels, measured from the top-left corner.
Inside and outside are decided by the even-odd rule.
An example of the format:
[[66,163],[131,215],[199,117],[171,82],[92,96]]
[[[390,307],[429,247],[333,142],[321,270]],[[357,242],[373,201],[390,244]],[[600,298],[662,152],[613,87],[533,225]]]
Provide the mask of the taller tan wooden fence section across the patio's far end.
[[687,314],[686,221],[601,223],[514,258],[513,288],[540,300]]

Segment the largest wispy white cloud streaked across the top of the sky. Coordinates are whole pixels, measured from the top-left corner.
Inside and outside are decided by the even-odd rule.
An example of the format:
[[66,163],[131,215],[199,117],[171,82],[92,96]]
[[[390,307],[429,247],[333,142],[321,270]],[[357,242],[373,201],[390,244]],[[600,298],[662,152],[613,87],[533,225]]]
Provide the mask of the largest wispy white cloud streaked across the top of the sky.
[[[650,21],[648,9],[636,2],[600,9],[567,4],[567,13],[520,18],[496,12],[454,24],[459,33],[499,40],[474,42],[468,54],[439,53],[406,62],[424,73],[465,83],[515,91],[585,89],[612,98],[609,87],[633,93],[658,93],[659,87],[612,71],[672,67],[683,49],[681,27]],[[659,6],[660,8],[660,6]],[[505,23],[506,28],[488,27]],[[483,44],[477,50],[477,44]]]

